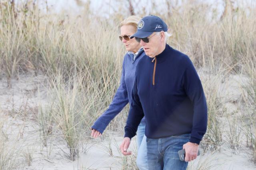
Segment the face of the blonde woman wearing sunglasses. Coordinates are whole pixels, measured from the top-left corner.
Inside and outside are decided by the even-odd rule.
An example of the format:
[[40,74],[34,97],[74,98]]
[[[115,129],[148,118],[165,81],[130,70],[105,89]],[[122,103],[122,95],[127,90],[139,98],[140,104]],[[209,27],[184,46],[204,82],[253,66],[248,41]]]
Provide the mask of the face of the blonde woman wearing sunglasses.
[[[128,35],[128,36],[132,36],[135,33],[135,28],[132,25],[123,25],[121,28],[121,35]],[[136,53],[138,51],[138,49],[141,47],[140,43],[138,43],[135,38],[133,39],[129,39],[129,41],[125,40],[123,38],[122,42],[125,45],[126,51],[133,51],[134,53]]]

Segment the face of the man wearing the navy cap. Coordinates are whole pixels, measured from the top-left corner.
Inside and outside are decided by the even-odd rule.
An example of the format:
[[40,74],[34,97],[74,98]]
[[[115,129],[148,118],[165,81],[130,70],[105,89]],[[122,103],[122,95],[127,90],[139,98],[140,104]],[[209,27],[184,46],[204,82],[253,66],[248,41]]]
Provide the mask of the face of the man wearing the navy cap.
[[145,43],[143,40],[140,40],[140,45],[143,47],[146,55],[153,58],[159,54],[161,38],[160,35],[156,35],[156,32],[149,35],[148,38],[148,43]]

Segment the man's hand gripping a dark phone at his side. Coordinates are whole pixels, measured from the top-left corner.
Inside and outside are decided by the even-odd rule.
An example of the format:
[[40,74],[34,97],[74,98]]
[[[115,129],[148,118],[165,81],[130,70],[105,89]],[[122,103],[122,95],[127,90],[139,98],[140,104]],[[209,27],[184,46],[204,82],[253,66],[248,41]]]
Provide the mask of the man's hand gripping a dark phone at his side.
[[183,149],[185,149],[186,152],[185,161],[188,162],[196,159],[199,145],[188,142],[183,145]]

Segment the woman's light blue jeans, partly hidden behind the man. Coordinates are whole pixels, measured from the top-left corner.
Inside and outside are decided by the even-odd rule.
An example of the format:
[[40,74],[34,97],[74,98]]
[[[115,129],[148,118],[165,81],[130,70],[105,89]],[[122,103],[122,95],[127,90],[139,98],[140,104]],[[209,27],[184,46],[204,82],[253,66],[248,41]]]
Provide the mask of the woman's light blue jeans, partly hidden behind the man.
[[137,160],[136,164],[140,170],[148,170],[147,146],[145,136],[146,121],[142,120],[137,130]]

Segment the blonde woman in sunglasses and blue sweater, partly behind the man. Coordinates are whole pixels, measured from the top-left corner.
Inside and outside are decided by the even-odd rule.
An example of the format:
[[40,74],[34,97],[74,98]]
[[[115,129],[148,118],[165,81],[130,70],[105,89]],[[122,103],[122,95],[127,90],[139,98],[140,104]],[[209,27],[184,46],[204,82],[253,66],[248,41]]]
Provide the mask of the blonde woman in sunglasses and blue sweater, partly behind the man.
[[[114,99],[109,105],[108,109],[94,122],[92,129],[92,137],[99,137],[106,129],[108,124],[114,117],[120,113],[120,111],[132,100],[132,88],[134,85],[134,75],[138,61],[145,55],[140,43],[135,38],[130,39],[137,29],[140,18],[137,16],[130,16],[120,23],[120,40],[124,44],[126,55],[124,55],[122,76],[120,80],[120,86],[118,87]],[[148,169],[147,157],[146,157],[146,137],[145,133],[145,119],[140,122],[137,131],[137,166],[140,170]],[[143,139],[143,141],[142,141]]]

